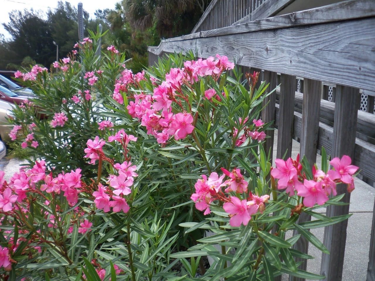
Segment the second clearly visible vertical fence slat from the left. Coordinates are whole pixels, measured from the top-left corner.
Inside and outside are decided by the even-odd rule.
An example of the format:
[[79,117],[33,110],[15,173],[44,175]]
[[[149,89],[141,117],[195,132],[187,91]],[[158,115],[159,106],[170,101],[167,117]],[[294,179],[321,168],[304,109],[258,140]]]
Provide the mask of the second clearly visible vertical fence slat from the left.
[[294,94],[296,93],[296,77],[281,74],[279,132],[277,158],[288,158],[292,154]]

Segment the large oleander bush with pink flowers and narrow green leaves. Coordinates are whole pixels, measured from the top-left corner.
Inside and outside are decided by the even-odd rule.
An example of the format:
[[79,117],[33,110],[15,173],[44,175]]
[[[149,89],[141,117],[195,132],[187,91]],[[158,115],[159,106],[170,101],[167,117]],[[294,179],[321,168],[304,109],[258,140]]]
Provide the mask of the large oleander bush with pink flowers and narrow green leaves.
[[[17,73],[36,97],[16,108],[11,137],[30,164],[0,173],[3,280],[273,280],[298,269],[301,236],[346,220],[357,167],[277,159],[260,119],[274,91],[225,56],[173,54],[133,74],[99,35],[55,63]],[[329,163],[333,166],[330,169]],[[297,223],[303,212],[316,220]],[[299,234],[287,232],[298,230]],[[220,249],[220,250],[218,250]],[[213,260],[207,262],[207,256]]]

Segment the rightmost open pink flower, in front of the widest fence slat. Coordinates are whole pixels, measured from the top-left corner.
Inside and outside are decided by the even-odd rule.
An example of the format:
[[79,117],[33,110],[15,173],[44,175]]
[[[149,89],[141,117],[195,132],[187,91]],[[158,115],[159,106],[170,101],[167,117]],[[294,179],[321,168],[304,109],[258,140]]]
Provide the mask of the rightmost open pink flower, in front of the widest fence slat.
[[340,179],[346,184],[351,184],[352,175],[357,172],[358,167],[351,165],[351,158],[348,155],[342,156],[340,158],[336,157],[330,161],[330,164],[335,168],[335,170],[329,171],[329,176],[333,180]]

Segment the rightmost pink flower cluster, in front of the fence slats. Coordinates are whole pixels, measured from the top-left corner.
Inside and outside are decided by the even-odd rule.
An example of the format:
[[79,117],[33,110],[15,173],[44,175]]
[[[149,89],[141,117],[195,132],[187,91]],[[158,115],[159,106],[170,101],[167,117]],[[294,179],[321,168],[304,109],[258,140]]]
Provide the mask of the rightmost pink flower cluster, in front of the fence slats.
[[351,158],[344,155],[341,159],[336,157],[330,161],[334,169],[324,173],[312,168],[313,179],[308,180],[302,173],[302,165],[299,156],[296,160],[288,158],[287,161],[276,159],[276,168],[272,169],[271,175],[278,179],[278,189],[286,189],[289,196],[303,197],[303,205],[312,207],[315,204],[323,205],[331,194],[336,196],[336,184],[348,184],[348,191],[354,190],[353,175],[358,170],[357,166],[351,165]]

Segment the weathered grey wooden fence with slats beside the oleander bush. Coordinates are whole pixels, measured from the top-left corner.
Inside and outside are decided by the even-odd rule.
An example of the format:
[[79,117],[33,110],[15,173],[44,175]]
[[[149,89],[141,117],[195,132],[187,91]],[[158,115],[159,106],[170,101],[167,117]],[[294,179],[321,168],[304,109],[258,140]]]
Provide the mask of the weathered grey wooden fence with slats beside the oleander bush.
[[[310,163],[315,163],[317,150],[324,146],[332,157],[350,155],[362,176],[374,182],[375,118],[358,109],[362,89],[369,94],[366,97],[369,111],[374,110],[371,103],[375,89],[375,1],[348,0],[228,26],[252,19],[256,10],[263,9],[267,16],[272,15],[280,5],[289,2],[264,0],[254,6],[254,0],[214,0],[194,28],[199,32],[148,47],[149,64],[165,53],[192,50],[196,57],[226,55],[244,68],[261,69],[263,80],[270,82],[270,89],[276,87],[277,74],[281,73],[280,88],[269,97],[262,113],[266,122],[276,119],[278,157],[285,151],[290,156],[295,138],[300,141],[300,154]],[[237,3],[238,8],[233,13],[232,9],[226,9],[230,15],[222,22],[223,7],[228,7],[225,6],[228,3],[232,6]],[[272,3],[279,6],[273,7]],[[303,87],[300,85],[297,93],[296,77],[300,84],[303,78]],[[327,101],[329,98],[322,100],[322,89],[330,85],[335,86],[334,95],[330,93],[330,101]],[[272,148],[273,138],[267,139],[265,145]],[[346,187],[338,186],[338,194],[342,193],[346,193]],[[343,200],[350,202],[350,194],[346,193]],[[348,212],[349,206],[327,208],[329,216]],[[310,219],[304,216],[300,222]],[[326,276],[325,280],[342,279],[347,224],[344,221],[325,228],[324,245],[331,253],[322,256],[321,274]],[[370,243],[367,281],[375,281],[375,217]],[[307,241],[300,239],[297,248],[307,252]],[[302,268],[306,268],[306,263]]]

